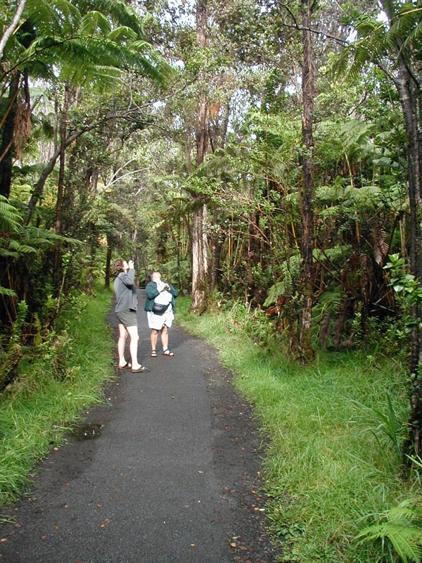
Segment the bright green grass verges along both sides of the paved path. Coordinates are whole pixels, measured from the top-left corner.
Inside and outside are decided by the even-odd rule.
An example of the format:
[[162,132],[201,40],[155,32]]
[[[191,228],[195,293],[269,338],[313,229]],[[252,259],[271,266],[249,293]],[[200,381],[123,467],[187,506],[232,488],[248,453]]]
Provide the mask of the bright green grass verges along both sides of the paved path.
[[[99,286],[91,296],[75,293],[44,350],[23,351],[20,376],[0,405],[0,505],[29,490],[37,462],[63,444],[84,410],[106,400],[104,386],[115,375],[110,301]],[[280,561],[418,562],[421,483],[416,471],[402,474],[402,358],[381,347],[322,350],[312,365],[299,365],[283,336],[274,339],[264,315],[244,303],[216,303],[199,317],[190,298],[177,305],[178,322],[218,350],[254,406],[267,443],[267,525],[283,545]]]

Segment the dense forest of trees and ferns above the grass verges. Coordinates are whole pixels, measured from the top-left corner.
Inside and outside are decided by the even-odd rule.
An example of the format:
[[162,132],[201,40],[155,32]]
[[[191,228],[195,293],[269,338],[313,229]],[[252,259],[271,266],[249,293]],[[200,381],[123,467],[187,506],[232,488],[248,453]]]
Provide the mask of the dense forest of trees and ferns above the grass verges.
[[245,303],[297,360],[407,362],[417,467],[421,6],[0,7],[0,388],[123,255],[195,312]]

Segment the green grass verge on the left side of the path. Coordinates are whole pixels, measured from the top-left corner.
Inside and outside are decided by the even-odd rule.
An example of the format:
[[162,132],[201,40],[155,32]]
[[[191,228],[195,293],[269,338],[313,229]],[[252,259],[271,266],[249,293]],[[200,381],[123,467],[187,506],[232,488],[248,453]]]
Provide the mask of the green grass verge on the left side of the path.
[[66,334],[60,377],[55,361],[26,355],[20,377],[0,395],[0,505],[14,500],[30,483],[30,473],[51,447],[60,445],[68,426],[82,411],[103,401],[113,378],[113,339],[106,324],[111,296],[70,301],[59,324]]

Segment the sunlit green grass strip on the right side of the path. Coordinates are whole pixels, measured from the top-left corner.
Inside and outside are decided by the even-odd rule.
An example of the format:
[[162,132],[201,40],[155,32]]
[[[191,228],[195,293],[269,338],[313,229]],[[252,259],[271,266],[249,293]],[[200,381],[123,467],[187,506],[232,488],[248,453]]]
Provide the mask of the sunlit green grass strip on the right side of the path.
[[376,515],[418,494],[399,479],[406,369],[351,352],[319,353],[312,365],[298,365],[286,350],[265,352],[250,339],[238,321],[243,312],[198,317],[178,301],[179,322],[219,350],[269,438],[262,471],[269,526],[286,540],[280,561],[399,560],[384,559],[381,544],[354,537]]

